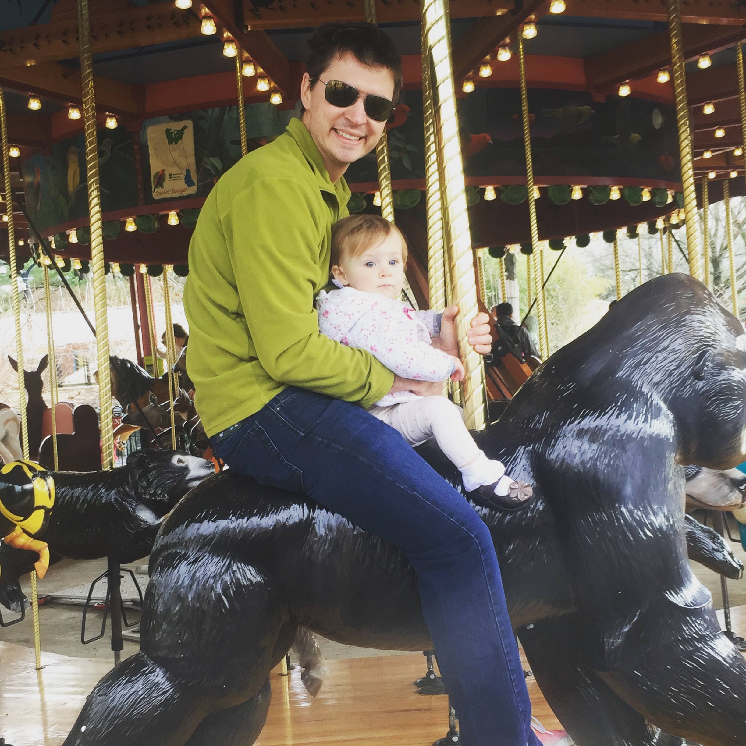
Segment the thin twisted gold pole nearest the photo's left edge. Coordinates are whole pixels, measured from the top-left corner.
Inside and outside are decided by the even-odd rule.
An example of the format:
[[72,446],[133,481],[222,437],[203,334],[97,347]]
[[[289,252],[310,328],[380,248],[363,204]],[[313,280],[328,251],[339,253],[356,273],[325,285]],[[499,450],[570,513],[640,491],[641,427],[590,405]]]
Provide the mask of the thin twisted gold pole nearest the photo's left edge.
[[[7,110],[5,92],[0,88],[0,145],[2,146],[2,170],[5,184],[5,214],[7,215],[7,260],[10,263],[10,295],[13,299],[13,324],[16,327],[16,363],[18,367],[18,401],[21,417],[21,446],[23,457],[28,459],[28,419],[26,418],[26,384],[23,374],[23,340],[21,338],[21,294],[18,289],[16,266],[16,222],[13,219],[13,185],[10,182],[10,154],[7,142]],[[42,667],[42,643],[39,630],[39,596],[37,572],[31,571],[31,615],[34,624],[34,659],[37,671]]]

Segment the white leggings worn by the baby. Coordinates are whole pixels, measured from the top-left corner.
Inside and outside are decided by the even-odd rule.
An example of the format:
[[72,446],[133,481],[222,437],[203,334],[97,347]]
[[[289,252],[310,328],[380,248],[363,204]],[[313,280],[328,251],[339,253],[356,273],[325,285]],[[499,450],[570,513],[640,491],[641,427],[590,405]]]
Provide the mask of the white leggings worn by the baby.
[[421,396],[391,407],[372,407],[369,412],[398,430],[410,445],[435,438],[439,448],[461,468],[479,455],[466,429],[463,411],[445,396]]

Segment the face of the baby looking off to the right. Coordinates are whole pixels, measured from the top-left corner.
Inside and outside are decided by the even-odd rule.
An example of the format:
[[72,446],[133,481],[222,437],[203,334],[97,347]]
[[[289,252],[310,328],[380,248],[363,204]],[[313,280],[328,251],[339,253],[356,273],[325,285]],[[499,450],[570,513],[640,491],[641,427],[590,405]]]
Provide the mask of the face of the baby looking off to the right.
[[389,233],[378,245],[359,257],[345,257],[332,269],[334,278],[363,292],[376,292],[396,300],[404,287],[404,261],[401,237]]

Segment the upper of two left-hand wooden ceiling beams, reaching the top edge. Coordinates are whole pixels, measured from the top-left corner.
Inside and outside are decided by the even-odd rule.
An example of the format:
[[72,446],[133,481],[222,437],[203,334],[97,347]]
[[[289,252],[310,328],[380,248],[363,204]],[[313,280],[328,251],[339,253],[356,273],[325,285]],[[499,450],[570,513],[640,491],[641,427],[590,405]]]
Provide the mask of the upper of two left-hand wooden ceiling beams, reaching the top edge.
[[[194,39],[200,35],[200,20],[192,10],[178,10],[173,0],[164,0],[128,10],[95,13],[91,28],[95,54]],[[69,60],[78,54],[76,20],[0,32],[0,69]]]

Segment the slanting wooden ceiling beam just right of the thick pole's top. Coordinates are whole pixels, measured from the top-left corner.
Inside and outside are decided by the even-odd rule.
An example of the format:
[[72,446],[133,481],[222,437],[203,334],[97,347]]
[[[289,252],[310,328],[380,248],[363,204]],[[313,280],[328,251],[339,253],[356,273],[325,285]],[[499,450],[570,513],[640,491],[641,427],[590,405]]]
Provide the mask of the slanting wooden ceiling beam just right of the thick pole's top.
[[515,13],[475,22],[454,46],[454,81],[458,84],[466,78],[504,39],[515,38],[530,16],[539,19],[546,12],[548,4],[548,0],[526,0],[521,10]]

